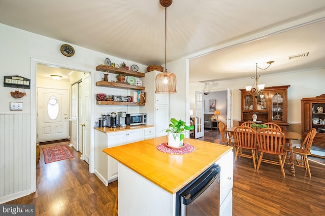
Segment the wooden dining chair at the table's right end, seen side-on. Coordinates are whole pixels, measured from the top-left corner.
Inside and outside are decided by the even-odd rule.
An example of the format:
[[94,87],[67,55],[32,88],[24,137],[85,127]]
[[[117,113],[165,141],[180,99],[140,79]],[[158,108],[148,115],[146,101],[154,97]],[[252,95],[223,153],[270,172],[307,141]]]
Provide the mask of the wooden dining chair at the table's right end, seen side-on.
[[[297,164],[295,164],[295,166],[300,166],[300,167],[304,167],[305,169],[307,169],[309,178],[311,178],[311,172],[310,172],[307,156],[311,155],[310,149],[311,149],[311,145],[313,144],[315,135],[316,135],[316,129],[312,128],[308,132],[308,134],[307,134],[304,142],[301,144],[300,148],[297,148],[296,146],[293,148],[293,153],[300,154],[302,157],[302,160],[304,162],[304,165],[301,165],[299,163],[299,161],[296,160]],[[284,151],[285,151],[285,153],[283,155],[283,164],[285,163],[286,155],[288,154],[288,152],[290,152],[289,147],[285,146]]]

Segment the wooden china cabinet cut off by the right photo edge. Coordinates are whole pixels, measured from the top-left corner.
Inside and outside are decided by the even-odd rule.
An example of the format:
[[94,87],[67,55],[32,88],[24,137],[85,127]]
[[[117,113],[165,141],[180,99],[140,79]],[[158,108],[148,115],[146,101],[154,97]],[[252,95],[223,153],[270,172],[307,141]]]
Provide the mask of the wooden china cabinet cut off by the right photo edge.
[[301,134],[305,139],[316,128],[313,145],[325,148],[325,94],[301,99]]

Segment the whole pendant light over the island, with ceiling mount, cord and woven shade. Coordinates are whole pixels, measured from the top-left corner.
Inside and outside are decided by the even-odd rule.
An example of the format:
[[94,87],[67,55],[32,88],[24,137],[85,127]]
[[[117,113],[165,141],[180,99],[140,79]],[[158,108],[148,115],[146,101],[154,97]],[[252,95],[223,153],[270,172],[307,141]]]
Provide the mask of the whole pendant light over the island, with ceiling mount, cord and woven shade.
[[172,0],[159,0],[161,6],[165,7],[165,72],[156,75],[156,94],[174,94],[176,93],[176,75],[167,71],[167,7]]

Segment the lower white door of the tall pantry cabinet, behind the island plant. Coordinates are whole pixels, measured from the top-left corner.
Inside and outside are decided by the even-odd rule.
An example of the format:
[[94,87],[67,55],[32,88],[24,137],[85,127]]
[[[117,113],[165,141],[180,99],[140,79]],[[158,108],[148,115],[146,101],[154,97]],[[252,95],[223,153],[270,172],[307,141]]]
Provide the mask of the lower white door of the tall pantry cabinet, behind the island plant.
[[155,134],[156,137],[165,136],[165,129],[169,125],[169,106],[160,105],[155,107]]

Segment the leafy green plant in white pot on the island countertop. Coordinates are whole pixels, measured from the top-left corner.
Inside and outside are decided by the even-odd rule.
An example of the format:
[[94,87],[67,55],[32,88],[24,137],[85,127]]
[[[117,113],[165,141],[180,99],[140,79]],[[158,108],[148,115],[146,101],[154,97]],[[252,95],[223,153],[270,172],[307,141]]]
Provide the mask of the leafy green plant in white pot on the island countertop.
[[171,122],[166,130],[166,133],[168,133],[168,145],[171,147],[181,147],[183,146],[185,132],[194,129],[194,125],[188,126],[185,121],[175,118],[171,118]]

